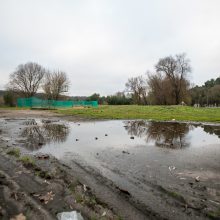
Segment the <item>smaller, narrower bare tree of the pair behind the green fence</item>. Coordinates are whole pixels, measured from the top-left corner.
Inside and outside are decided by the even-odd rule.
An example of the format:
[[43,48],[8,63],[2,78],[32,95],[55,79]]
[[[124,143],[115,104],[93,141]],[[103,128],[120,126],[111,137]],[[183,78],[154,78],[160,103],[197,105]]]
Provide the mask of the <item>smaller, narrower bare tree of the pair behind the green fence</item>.
[[62,93],[68,91],[69,84],[70,82],[65,72],[47,72],[42,88],[47,99],[58,100]]

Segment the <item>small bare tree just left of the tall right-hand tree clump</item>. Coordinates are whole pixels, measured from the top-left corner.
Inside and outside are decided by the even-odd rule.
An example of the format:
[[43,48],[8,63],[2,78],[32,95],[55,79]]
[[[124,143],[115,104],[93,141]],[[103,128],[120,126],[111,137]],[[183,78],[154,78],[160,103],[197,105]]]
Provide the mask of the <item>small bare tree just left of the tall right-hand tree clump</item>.
[[143,76],[129,78],[125,87],[127,92],[132,93],[135,104],[146,104],[147,83]]

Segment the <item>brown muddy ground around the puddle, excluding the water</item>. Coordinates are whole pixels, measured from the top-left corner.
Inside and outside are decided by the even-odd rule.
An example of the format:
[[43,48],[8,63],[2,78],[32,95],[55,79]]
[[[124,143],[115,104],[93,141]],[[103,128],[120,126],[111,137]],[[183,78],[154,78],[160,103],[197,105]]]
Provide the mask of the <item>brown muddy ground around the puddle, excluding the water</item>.
[[174,182],[173,189],[167,183],[146,181],[148,198],[143,203],[78,162],[66,164],[51,155],[24,156],[18,146],[25,142],[19,133],[33,118],[45,123],[79,118],[32,110],[0,110],[0,118],[0,219],[18,215],[56,219],[57,213],[71,210],[85,219],[220,219],[218,170],[202,181],[203,171],[189,175],[182,185]]

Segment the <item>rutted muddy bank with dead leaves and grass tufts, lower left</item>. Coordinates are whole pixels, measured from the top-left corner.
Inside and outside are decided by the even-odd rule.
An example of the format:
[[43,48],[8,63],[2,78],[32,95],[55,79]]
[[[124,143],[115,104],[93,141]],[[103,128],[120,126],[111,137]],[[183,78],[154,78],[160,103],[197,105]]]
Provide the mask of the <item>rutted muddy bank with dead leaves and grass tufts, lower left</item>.
[[1,219],[19,214],[27,219],[56,219],[57,213],[71,210],[81,212],[84,219],[120,219],[55,158],[18,156],[14,148],[6,148],[0,155]]

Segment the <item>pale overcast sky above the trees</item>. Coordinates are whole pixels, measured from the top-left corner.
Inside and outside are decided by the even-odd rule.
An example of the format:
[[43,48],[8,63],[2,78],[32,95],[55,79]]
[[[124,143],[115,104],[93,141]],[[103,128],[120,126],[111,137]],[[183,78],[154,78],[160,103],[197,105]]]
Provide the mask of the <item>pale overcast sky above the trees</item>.
[[0,89],[33,61],[65,71],[70,95],[113,94],[182,52],[191,82],[220,76],[220,0],[0,0]]

